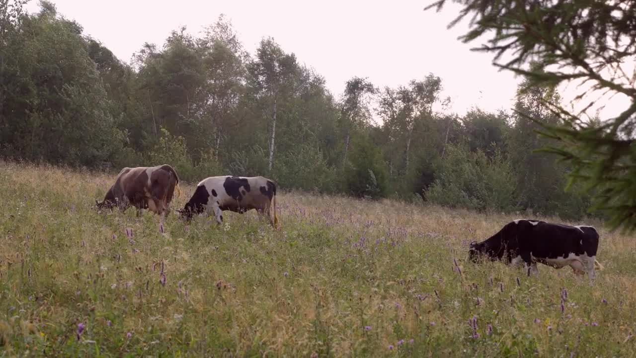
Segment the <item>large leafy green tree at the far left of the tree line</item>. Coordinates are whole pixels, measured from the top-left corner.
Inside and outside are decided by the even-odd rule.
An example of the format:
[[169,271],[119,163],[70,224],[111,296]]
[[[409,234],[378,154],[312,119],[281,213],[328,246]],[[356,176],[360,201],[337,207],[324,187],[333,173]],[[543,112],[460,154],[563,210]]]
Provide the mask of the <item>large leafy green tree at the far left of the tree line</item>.
[[[14,157],[102,166],[121,150],[106,90],[81,36],[81,26],[41,2],[3,40],[0,142]],[[4,31],[4,30],[3,30]]]

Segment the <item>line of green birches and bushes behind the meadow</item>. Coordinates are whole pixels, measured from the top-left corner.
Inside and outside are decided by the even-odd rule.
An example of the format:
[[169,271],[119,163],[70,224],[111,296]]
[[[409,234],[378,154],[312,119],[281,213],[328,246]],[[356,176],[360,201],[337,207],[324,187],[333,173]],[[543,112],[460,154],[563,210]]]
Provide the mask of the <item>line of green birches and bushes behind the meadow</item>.
[[569,166],[534,152],[551,141],[537,122],[560,124],[544,105],[559,99],[553,85],[526,79],[514,111],[460,116],[432,73],[395,88],[353,76],[335,96],[273,38],[247,52],[223,15],[200,36],[183,27],[144,44],[128,64],[52,3],[34,14],[24,3],[0,0],[6,159],[167,163],[190,182],[266,175],[284,189],[570,218],[590,206],[590,194],[564,192]]

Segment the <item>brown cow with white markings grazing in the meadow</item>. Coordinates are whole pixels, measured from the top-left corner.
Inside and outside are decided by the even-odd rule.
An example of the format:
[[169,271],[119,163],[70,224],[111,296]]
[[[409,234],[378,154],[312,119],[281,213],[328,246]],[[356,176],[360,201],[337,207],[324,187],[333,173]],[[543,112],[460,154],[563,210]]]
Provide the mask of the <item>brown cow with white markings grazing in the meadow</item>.
[[170,211],[170,202],[174,190],[179,189],[179,176],[168,164],[154,167],[123,168],[117,175],[113,186],[106,192],[106,197],[97,208],[113,209],[118,206],[125,211],[130,204],[137,208],[137,216],[142,209],[149,209],[165,217]]

